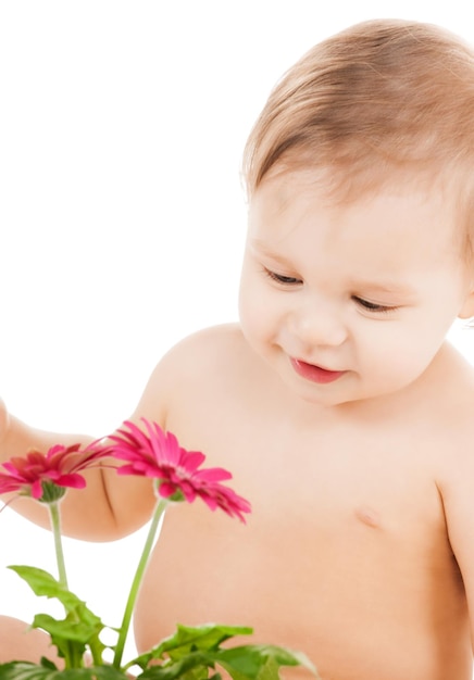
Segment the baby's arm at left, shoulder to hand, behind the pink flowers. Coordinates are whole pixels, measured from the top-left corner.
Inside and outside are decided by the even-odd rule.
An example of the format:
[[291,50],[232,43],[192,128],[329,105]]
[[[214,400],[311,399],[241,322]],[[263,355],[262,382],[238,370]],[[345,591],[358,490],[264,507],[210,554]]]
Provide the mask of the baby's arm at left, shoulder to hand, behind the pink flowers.
[[[215,370],[216,352],[229,343],[234,348],[236,335],[234,326],[205,329],[172,348],[153,370],[135,413],[127,419],[140,427],[140,419],[146,418],[166,429],[172,407],[182,412],[183,418],[190,417],[194,400],[202,399],[205,391],[202,374],[209,376],[201,366],[208,366],[209,372]],[[173,423],[175,427],[176,417]],[[173,432],[180,438],[179,431]],[[101,432],[100,436],[111,433]],[[86,444],[91,440],[83,435],[33,429],[9,415],[4,406],[0,407],[0,463],[14,455],[25,455],[30,449],[46,453],[54,444]],[[107,465],[86,470],[84,476],[86,489],[68,490],[61,504],[65,534],[91,541],[115,540],[148,521],[155,502],[150,479],[118,476]],[[14,509],[36,524],[49,526],[49,519],[39,506],[29,499],[15,500],[13,504]]]

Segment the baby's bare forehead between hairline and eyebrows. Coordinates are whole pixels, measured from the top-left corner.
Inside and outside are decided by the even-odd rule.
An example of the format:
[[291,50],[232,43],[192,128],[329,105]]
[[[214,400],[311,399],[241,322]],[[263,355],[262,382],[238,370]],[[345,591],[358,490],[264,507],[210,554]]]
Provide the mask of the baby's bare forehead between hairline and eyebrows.
[[378,190],[341,200],[330,189],[328,171],[276,172],[265,177],[249,205],[249,236],[289,238],[305,226],[308,236],[349,240],[404,239],[461,252],[456,199],[446,185],[386,181]]

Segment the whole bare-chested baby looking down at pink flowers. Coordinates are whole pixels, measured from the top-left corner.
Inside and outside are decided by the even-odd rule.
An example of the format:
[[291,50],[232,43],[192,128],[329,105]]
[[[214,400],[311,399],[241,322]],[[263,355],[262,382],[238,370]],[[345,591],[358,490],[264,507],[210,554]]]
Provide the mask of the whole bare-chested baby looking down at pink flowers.
[[[323,41],[271,93],[245,153],[240,323],[173,348],[130,418],[232,470],[252,515],[169,513],[139,651],[213,620],[301,650],[323,680],[471,679],[474,370],[446,335],[474,315],[473,121],[473,52],[413,22]],[[87,441],[2,418],[3,459]],[[117,539],[153,500],[149,480],[89,473],[63,528]],[[3,624],[0,658],[51,657]]]

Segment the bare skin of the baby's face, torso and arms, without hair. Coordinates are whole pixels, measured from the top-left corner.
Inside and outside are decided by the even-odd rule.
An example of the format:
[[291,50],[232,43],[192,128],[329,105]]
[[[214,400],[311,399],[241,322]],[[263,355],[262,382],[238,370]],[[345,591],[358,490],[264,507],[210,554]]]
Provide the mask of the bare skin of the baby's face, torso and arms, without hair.
[[[412,185],[338,205],[308,172],[257,190],[240,325],[172,349],[133,416],[232,470],[253,511],[244,526],[170,508],[140,651],[215,620],[305,652],[323,680],[471,680],[474,372],[445,336],[474,294],[450,205]],[[10,454],[58,441],[3,416]],[[63,526],[113,539],[152,504],[148,482],[104,471],[66,496]]]

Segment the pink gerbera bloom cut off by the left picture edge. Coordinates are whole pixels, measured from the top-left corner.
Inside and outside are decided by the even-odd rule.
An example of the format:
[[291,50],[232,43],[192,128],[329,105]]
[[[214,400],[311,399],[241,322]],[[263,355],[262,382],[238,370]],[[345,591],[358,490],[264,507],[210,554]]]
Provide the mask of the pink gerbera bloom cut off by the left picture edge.
[[107,453],[107,449],[96,449],[93,444],[83,451],[80,444],[57,444],[46,454],[33,450],[25,456],[14,456],[1,466],[7,471],[0,471],[0,494],[20,491],[38,500],[43,495],[43,483],[48,482],[83,489],[86,480],[79,470],[91,467]]

